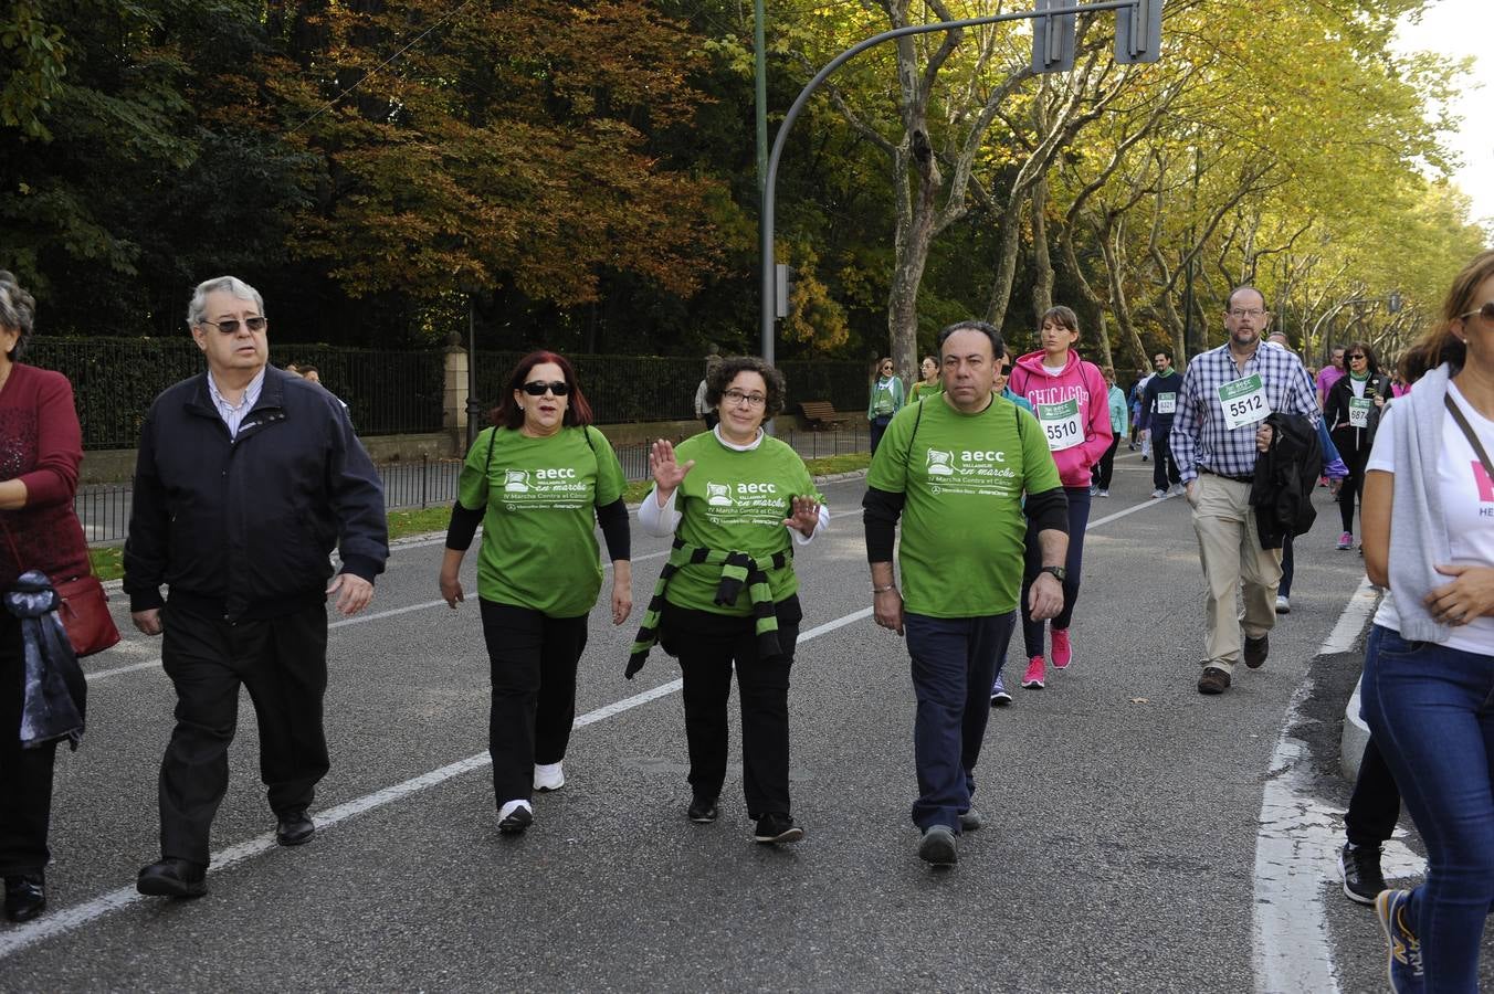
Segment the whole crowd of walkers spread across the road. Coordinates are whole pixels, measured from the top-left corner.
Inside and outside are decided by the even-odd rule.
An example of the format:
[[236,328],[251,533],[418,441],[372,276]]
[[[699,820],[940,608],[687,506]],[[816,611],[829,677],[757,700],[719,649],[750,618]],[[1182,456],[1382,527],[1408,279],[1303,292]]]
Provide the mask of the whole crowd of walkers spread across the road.
[[[81,431],[67,381],[18,361],[33,319],[31,297],[0,272],[0,587],[57,603],[46,601],[54,587],[88,573],[72,510]],[[976,769],[991,707],[1011,701],[1002,663],[1017,624],[1026,690],[1080,652],[1070,630],[1091,501],[1110,496],[1123,437],[1144,446],[1152,497],[1182,496],[1192,509],[1206,696],[1227,693],[1239,663],[1267,661],[1277,615],[1291,609],[1292,539],[1312,525],[1319,478],[1333,478],[1337,546],[1354,548],[1358,507],[1364,567],[1385,591],[1366,651],[1373,737],[1346,816],[1345,893],[1376,906],[1394,990],[1472,991],[1494,907],[1494,252],[1457,278],[1395,379],[1354,342],[1315,381],[1283,339],[1267,339],[1270,319],[1256,288],[1236,288],[1224,345],[1182,372],[1158,349],[1131,390],[1080,357],[1079,319],[1064,306],[1041,316],[1038,348],[1016,358],[996,328],[961,321],[940,333],[910,390],[890,358],[878,363],[862,515],[874,619],[904,636],[910,657],[917,855],[955,864],[959,836],[985,821]],[[327,604],[344,615],[366,607],[388,557],[381,485],[347,407],[314,376],[269,364],[258,291],[232,276],[206,281],[187,324],[208,369],[163,393],[142,425],[124,555],[131,619],[163,637],[176,690],[160,858],[137,882],[164,897],[206,893],[241,688],[258,719],[276,840],[315,834],[309,809],[329,769]],[[804,616],[793,563],[831,519],[802,458],[765,431],[784,394],[762,360],[713,357],[696,397],[708,428],[653,443],[638,522],[672,545],[624,667],[635,676],[654,646],[678,661],[683,815],[698,824],[720,816],[735,675],[743,794],[751,837],[765,845],[804,836],[789,790]],[[598,525],[611,619],[633,613],[623,472],[592,419],[565,357],[533,352],[514,367],[493,425],[466,454],[436,578],[457,609],[481,525],[478,616],[505,834],[533,827],[533,795],[566,784],[578,663],[605,579]],[[88,651],[58,634],[55,612],[24,613],[19,600],[7,593],[0,612],[0,722],[22,733],[0,736],[12,921],[46,904],[55,748],[82,736],[76,655]],[[28,739],[42,684],[75,718]],[[1379,866],[1401,803],[1428,851],[1413,890],[1386,887]]]

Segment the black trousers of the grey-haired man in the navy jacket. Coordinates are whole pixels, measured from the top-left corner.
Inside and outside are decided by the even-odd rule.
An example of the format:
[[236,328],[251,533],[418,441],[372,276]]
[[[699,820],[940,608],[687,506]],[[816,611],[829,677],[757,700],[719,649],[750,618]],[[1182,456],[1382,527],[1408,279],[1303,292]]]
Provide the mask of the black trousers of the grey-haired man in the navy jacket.
[[229,790],[239,687],[254,703],[270,810],[306,809],[327,775],[327,606],[232,622],[167,604],[163,622],[176,727],[161,758],[161,855],[206,866],[212,819]]

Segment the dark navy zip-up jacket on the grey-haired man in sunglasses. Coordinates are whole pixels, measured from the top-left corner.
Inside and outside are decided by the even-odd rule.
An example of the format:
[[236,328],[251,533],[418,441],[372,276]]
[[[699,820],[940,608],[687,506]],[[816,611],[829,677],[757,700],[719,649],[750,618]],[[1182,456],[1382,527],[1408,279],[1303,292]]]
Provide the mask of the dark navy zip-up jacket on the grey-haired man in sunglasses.
[[326,601],[329,555],[372,582],[388,558],[384,487],[342,403],[275,367],[229,436],[208,373],[166,388],[140,428],[124,590],[130,610],[275,618]]

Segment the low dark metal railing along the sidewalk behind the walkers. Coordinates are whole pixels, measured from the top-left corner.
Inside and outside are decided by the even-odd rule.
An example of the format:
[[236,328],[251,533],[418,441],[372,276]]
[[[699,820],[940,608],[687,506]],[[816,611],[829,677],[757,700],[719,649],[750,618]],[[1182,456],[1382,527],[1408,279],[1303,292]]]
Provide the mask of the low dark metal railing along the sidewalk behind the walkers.
[[[847,455],[865,452],[871,443],[864,428],[846,431],[789,431],[784,442],[804,458]],[[629,481],[648,478],[648,443],[636,442],[613,446],[623,464],[623,476]],[[457,479],[462,475],[462,460],[421,457],[379,463],[379,479],[384,482],[384,506],[388,510],[450,506],[457,498]],[[102,484],[84,487],[73,498],[78,519],[90,545],[118,545],[130,528],[128,484]]]

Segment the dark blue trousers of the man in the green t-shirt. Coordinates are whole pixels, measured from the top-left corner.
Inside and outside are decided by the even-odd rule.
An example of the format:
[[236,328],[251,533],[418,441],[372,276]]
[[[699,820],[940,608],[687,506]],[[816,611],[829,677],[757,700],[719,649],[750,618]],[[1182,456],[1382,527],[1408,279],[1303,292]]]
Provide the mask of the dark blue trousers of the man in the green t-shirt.
[[976,760],[991,716],[991,682],[1005,658],[1017,613],[980,618],[902,618],[913,657],[913,761],[919,800],[913,824],[949,825],[959,833],[959,815],[976,793]]

